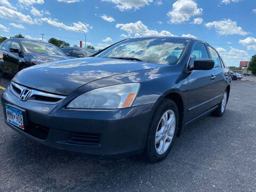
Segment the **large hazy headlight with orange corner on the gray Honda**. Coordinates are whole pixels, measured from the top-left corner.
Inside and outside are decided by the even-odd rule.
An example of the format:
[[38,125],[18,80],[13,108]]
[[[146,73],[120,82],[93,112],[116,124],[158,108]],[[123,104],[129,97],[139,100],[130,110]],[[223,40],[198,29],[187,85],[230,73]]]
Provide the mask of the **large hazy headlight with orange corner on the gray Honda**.
[[139,83],[128,83],[95,89],[71,101],[67,108],[119,109],[131,107],[139,87]]

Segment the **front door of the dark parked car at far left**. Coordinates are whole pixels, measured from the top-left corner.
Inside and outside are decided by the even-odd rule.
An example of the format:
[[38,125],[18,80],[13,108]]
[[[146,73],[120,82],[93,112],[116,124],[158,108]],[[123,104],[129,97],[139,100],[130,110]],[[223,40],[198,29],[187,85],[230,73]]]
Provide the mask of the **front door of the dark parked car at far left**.
[[21,52],[21,47],[18,41],[13,40],[9,47],[9,70],[12,73],[18,73],[19,71],[19,60],[20,53],[11,52],[10,49],[18,49]]

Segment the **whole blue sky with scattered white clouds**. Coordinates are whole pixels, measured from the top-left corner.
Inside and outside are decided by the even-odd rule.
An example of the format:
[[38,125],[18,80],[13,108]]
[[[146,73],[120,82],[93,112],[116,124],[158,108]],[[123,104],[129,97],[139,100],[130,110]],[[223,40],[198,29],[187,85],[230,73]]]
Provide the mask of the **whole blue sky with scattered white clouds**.
[[[0,0],[0,35],[62,39],[87,36],[102,49],[127,37],[195,36],[228,66],[256,54],[255,0]],[[83,44],[84,45],[84,44]]]

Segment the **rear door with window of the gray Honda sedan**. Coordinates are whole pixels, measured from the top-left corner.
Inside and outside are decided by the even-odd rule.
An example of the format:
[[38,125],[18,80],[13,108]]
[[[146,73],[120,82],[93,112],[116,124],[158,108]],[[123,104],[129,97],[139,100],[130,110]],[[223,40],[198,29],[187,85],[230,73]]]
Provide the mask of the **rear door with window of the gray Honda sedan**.
[[228,85],[228,81],[226,81],[228,77],[228,71],[226,71],[226,68],[223,66],[218,52],[211,46],[207,45],[207,48],[209,49],[211,59],[214,60],[214,68],[212,70],[215,76],[215,86],[213,87],[215,99],[213,102],[214,105],[217,105],[221,101],[222,95]]

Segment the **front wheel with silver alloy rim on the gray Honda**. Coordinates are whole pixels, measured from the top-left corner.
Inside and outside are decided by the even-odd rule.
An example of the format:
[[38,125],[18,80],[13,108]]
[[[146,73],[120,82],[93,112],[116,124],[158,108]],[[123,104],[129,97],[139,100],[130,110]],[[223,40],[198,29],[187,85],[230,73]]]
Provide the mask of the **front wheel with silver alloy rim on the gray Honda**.
[[[164,115],[167,115],[167,125],[169,126],[162,125],[164,124]],[[168,120],[170,124],[168,124]],[[177,135],[178,122],[179,112],[177,105],[170,99],[163,99],[156,108],[154,117],[149,126],[144,150],[144,157],[147,162],[157,163],[162,161],[170,153]],[[169,129],[167,127],[169,127]],[[166,144],[165,147],[161,147],[164,146],[163,143]]]

